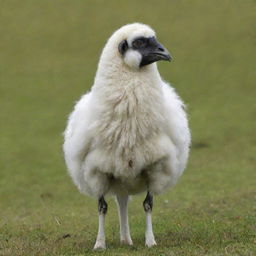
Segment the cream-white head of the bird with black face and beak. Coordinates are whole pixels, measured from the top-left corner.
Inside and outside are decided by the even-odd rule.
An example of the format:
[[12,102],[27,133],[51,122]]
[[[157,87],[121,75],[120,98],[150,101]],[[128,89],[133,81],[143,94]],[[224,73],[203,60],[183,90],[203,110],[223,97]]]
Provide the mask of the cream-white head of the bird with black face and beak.
[[106,52],[115,53],[112,58],[118,58],[135,70],[159,60],[172,59],[168,50],[157,41],[154,30],[141,23],[128,24],[118,29],[110,37],[107,46],[109,49]]

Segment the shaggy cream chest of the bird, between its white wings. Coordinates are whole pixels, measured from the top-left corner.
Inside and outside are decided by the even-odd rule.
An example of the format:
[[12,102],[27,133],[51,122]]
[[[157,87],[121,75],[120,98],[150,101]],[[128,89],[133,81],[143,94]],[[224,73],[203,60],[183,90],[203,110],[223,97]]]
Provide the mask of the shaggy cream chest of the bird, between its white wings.
[[135,177],[165,157],[162,100],[153,94],[120,94],[101,104],[92,145],[104,159],[98,169],[114,177]]

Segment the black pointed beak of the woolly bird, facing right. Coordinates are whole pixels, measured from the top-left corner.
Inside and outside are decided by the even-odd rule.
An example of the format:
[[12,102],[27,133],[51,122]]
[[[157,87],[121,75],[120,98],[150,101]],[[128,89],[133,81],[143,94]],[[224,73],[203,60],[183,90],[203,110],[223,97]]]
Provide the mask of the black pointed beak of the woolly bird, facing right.
[[159,60],[172,60],[168,50],[162,44],[160,44],[155,37],[148,39],[147,47],[140,49],[140,53],[142,55],[140,67],[146,66]]

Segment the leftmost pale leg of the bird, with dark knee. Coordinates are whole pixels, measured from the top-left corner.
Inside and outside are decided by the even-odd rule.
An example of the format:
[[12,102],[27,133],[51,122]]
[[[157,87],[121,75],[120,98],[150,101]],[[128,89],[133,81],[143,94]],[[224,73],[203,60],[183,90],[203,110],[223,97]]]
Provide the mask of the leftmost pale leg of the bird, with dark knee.
[[104,199],[104,196],[101,196],[98,200],[98,211],[99,211],[99,229],[98,235],[96,239],[96,243],[94,245],[94,250],[97,249],[106,249],[105,242],[105,215],[108,210],[107,202]]

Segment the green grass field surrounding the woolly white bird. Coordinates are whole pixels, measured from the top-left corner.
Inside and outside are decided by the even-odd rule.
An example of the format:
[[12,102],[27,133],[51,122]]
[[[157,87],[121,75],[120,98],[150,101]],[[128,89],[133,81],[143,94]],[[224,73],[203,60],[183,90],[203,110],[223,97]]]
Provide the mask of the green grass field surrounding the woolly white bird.
[[[0,0],[0,255],[256,255],[256,2]],[[92,252],[97,203],[67,175],[62,131],[93,83],[109,35],[150,24],[159,63],[188,105],[193,146],[175,188],[155,198],[158,246],[144,247],[144,195],[130,202],[133,247]]]

